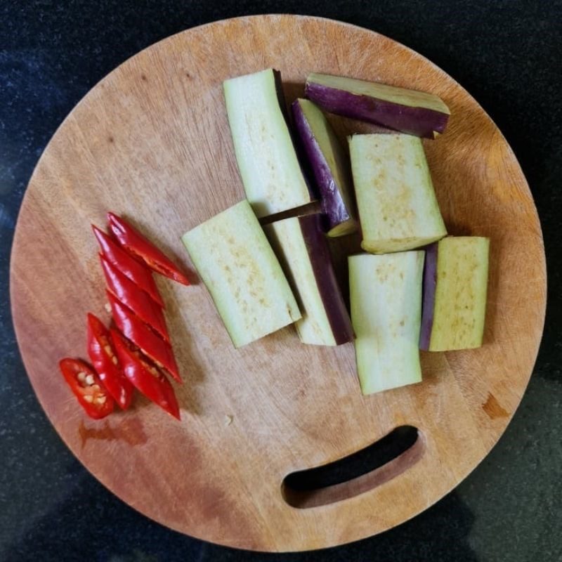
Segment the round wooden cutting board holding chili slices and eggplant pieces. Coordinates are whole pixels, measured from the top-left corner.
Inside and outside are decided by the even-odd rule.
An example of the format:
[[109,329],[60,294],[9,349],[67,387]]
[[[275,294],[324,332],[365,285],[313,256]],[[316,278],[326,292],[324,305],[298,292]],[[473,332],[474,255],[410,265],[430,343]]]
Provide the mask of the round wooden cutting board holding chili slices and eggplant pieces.
[[[311,71],[438,94],[452,116],[425,143],[453,234],[491,239],[485,345],[422,353],[424,381],[363,397],[353,345],[304,346],[292,327],[235,350],[201,283],[159,279],[185,384],[178,422],[137,396],[84,416],[57,363],[86,358],[86,312],[107,318],[90,223],[131,219],[186,269],[180,236],[244,197],[222,82],[275,67],[287,101]],[[336,122],[342,136],[368,126]],[[502,134],[459,84],[386,37],[319,18],[204,25],[126,61],[74,108],[25,194],[11,268],[13,318],[41,405],[81,462],[143,514],[265,551],[318,549],[418,514],[485,457],[528,383],[542,334],[545,264],[528,185]],[[354,481],[285,499],[287,474],[340,459],[398,426],[415,445]]]

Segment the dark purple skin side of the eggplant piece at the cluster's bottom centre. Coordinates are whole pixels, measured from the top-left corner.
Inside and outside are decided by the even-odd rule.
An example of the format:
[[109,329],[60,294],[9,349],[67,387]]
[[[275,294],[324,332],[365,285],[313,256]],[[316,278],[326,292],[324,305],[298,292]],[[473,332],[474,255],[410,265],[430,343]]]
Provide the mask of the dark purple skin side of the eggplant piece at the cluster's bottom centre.
[[355,339],[355,334],[336,280],[332,257],[320,224],[320,215],[299,216],[299,224],[334,340],[337,346],[346,344]]

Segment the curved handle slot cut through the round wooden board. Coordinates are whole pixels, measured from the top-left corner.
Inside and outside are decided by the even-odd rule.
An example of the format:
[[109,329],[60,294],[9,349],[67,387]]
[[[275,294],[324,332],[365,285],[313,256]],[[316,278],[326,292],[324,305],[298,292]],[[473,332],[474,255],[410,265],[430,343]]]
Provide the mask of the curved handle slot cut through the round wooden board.
[[423,433],[398,426],[348,457],[285,476],[285,502],[304,509],[340,502],[377,488],[416,464],[425,450]]

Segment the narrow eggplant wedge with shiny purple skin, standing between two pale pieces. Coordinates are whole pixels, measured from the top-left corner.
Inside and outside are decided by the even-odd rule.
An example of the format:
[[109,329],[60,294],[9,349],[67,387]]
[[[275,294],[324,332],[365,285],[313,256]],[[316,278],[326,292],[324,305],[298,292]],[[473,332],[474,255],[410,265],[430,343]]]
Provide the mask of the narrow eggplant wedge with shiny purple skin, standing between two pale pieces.
[[296,131],[311,166],[320,197],[328,236],[344,236],[357,228],[351,196],[351,174],[336,133],[320,108],[309,100],[298,99],[292,105]]

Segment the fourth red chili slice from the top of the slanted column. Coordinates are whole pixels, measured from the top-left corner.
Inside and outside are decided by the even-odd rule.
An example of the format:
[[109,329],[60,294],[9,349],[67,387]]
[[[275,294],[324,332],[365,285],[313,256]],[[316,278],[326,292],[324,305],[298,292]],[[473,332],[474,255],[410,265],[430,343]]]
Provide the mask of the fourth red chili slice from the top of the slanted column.
[[174,358],[174,352],[167,341],[159,338],[145,323],[132,313],[129,308],[118,301],[109,291],[107,299],[110,301],[113,312],[113,320],[117,327],[129,338],[133,344],[141,349],[141,352],[154,361],[157,367],[166,369],[178,383],[182,383],[178,364]]

